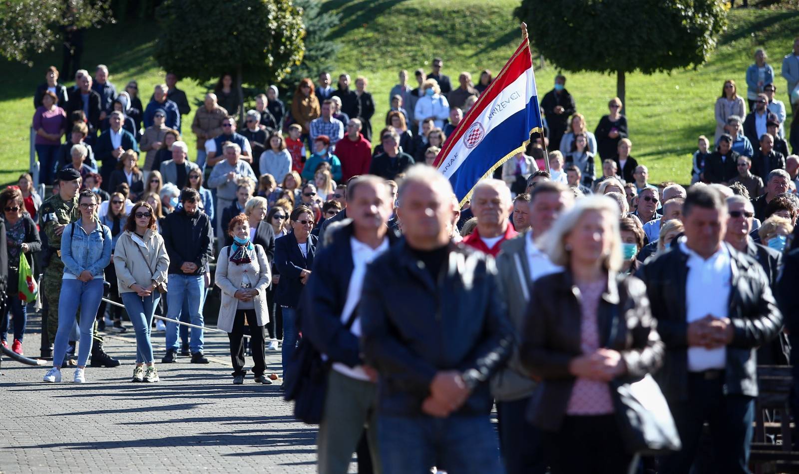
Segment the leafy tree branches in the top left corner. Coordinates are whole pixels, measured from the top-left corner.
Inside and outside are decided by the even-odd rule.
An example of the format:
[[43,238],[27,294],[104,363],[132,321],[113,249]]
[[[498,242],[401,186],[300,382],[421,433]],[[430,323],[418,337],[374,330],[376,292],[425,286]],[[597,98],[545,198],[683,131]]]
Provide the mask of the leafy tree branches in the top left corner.
[[5,0],[0,2],[0,56],[33,66],[31,58],[54,50],[61,26],[113,23],[109,0]]

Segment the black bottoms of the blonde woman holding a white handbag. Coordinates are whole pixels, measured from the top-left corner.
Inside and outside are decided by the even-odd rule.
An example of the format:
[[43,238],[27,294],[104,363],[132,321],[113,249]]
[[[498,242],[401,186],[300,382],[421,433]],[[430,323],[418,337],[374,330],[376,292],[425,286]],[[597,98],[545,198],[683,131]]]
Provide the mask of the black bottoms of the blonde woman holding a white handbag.
[[638,466],[619,442],[615,415],[567,415],[560,432],[544,437],[552,474],[625,474]]

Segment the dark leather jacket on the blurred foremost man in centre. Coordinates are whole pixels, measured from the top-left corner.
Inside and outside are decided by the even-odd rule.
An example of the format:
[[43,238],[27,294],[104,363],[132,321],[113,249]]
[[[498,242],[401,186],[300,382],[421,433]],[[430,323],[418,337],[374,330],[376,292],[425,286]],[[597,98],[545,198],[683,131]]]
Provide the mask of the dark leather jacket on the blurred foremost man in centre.
[[438,281],[404,241],[369,265],[360,300],[364,359],[380,372],[380,412],[419,416],[436,372],[474,384],[453,415],[487,415],[488,380],[514,344],[494,259],[451,244]]

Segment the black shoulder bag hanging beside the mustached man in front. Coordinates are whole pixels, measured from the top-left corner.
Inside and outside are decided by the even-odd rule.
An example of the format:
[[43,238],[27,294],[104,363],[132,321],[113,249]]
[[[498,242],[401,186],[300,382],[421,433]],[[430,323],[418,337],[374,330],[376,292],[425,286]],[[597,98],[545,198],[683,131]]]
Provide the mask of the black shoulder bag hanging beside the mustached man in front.
[[[350,329],[358,313],[352,310],[345,328]],[[305,424],[320,424],[324,416],[324,399],[328,393],[330,362],[308,341],[300,339],[292,358],[287,364],[288,376],[284,377],[284,400],[294,400],[294,417]]]

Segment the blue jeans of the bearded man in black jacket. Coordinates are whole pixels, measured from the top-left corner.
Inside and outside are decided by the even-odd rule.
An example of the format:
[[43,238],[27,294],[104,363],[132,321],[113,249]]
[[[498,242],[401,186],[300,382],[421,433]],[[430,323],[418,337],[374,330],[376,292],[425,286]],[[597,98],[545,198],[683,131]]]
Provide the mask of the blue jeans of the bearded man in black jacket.
[[[203,325],[202,305],[205,297],[205,276],[204,275],[179,275],[169,273],[169,281],[166,284],[166,301],[169,303],[166,317],[173,321],[179,321],[183,300],[189,300],[189,317],[193,325]],[[172,321],[166,323],[166,350],[177,351],[178,324]],[[202,352],[203,343],[202,329],[192,328],[191,341],[189,348],[192,353]]]

